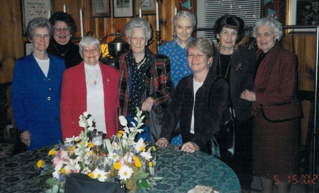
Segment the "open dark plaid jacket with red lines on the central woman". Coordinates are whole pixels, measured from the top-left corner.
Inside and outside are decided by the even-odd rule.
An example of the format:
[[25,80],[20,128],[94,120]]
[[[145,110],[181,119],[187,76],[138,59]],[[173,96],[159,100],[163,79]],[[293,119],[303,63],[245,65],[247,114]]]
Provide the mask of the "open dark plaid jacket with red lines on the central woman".
[[[147,49],[147,48],[146,48]],[[129,52],[129,51],[128,51]],[[120,93],[120,115],[127,115],[128,110],[128,92],[129,92],[129,63],[126,59],[128,52],[123,53],[116,59],[117,65],[120,66],[120,80],[119,80],[119,93]],[[170,75],[170,60],[167,56],[157,54],[152,55],[152,70],[146,73],[145,87],[146,90],[143,94],[143,101],[149,97],[149,84],[151,74],[153,77],[153,91],[150,96],[154,99],[157,113],[163,112],[167,108],[167,102],[172,97],[174,92],[174,85]]]

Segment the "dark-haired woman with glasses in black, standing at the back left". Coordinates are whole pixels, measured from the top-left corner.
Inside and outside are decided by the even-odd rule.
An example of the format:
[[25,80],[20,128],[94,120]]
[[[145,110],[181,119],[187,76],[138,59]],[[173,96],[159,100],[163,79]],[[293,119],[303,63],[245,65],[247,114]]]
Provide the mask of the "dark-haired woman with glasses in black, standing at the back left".
[[70,40],[76,32],[74,19],[69,14],[58,11],[50,17],[50,22],[54,34],[48,53],[62,57],[66,68],[79,64],[82,61],[79,48]]

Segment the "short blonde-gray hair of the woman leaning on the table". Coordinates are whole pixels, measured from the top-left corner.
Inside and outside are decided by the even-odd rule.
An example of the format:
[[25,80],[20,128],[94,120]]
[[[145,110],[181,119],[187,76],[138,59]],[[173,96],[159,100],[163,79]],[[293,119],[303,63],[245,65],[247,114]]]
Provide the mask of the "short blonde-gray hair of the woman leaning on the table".
[[[187,45],[187,54],[189,54],[189,48],[195,48],[198,49],[200,52],[203,52],[207,55],[207,59],[210,57],[214,57],[214,44],[211,40],[208,38],[196,38],[189,42]],[[209,63],[209,66],[211,66],[213,60]]]

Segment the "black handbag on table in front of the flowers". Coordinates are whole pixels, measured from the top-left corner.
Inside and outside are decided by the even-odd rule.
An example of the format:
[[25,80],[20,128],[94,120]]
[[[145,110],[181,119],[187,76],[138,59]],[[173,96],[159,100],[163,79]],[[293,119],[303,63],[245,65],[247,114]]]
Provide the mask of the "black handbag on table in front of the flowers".
[[88,175],[73,173],[65,180],[64,193],[125,193],[125,185],[100,182]]

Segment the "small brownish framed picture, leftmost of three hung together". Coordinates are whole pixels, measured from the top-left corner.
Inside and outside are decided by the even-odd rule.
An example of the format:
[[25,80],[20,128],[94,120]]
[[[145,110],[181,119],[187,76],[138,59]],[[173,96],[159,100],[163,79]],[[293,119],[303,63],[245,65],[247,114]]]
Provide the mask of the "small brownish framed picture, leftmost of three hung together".
[[110,0],[92,0],[93,17],[111,17]]

